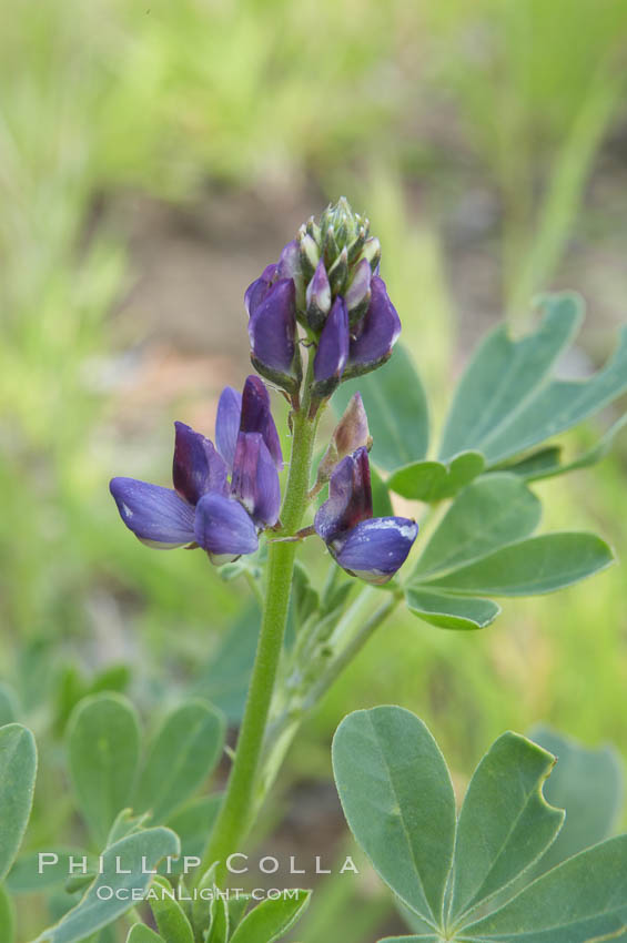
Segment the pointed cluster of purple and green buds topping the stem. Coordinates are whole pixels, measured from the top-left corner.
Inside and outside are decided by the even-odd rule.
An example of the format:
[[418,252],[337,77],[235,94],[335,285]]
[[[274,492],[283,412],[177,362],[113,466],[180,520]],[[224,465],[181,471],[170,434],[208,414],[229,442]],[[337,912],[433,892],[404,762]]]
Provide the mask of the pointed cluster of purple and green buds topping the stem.
[[314,405],[384,364],[401,321],[380,276],[381,245],[345,197],[312,216],[247,288],[251,359],[290,395],[300,389],[297,324],[313,356]]

